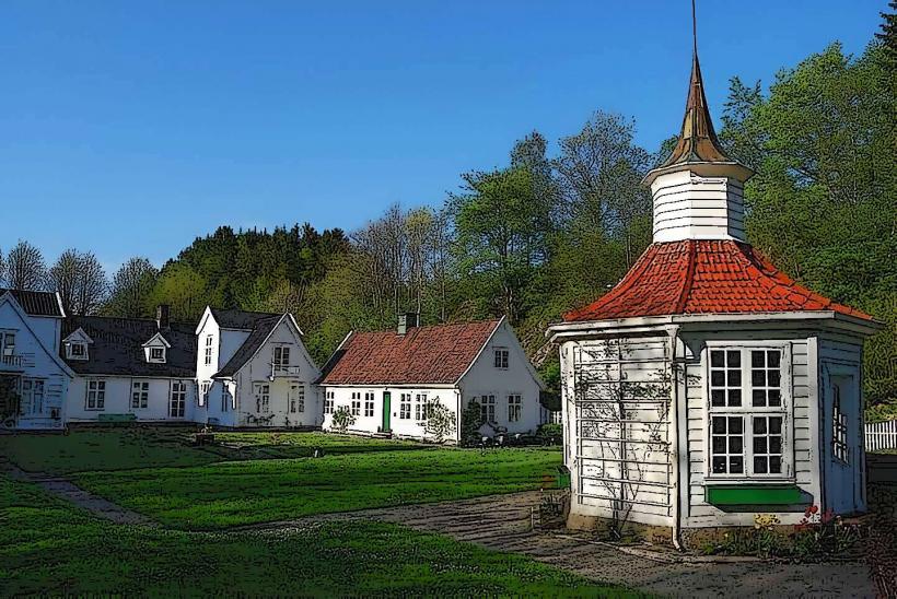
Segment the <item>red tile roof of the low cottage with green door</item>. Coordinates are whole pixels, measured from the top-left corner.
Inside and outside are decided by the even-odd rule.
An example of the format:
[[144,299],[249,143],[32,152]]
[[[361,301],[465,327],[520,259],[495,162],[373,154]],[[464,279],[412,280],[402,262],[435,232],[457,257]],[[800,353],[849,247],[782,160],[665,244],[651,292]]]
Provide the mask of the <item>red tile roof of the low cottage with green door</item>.
[[454,384],[501,320],[353,332],[324,367],[322,385]]

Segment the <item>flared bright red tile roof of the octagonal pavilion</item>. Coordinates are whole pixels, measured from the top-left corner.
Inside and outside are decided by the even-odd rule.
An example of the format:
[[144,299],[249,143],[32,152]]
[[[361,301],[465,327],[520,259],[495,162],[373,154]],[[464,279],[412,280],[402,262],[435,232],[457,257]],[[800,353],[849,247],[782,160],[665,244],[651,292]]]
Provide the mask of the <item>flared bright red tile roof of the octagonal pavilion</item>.
[[747,244],[687,239],[649,246],[613,290],[564,320],[808,310],[872,320],[802,287]]

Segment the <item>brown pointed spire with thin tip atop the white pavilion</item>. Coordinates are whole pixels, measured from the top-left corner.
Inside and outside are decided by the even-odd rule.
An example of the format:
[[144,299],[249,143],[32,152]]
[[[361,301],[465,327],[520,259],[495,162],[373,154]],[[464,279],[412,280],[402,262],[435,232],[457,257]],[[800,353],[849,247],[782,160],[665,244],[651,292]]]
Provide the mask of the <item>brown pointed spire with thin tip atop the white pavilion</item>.
[[664,161],[661,168],[674,164],[692,162],[733,162],[725,155],[713,122],[710,120],[710,108],[707,106],[707,96],[703,93],[703,78],[698,61],[698,26],[695,16],[695,0],[691,0],[691,81],[688,84],[688,99],[685,103],[685,118],[679,140],[673,153]]

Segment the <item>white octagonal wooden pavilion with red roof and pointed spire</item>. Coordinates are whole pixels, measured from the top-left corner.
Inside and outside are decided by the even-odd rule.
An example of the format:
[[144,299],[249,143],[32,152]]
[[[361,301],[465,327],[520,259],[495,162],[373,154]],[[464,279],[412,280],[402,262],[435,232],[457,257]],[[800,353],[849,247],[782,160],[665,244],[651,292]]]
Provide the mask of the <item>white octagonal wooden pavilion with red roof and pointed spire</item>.
[[674,544],[757,513],[865,509],[867,315],[747,244],[744,183],[710,120],[697,52],[678,142],[645,183],[654,239],[560,345],[573,528],[640,524]]

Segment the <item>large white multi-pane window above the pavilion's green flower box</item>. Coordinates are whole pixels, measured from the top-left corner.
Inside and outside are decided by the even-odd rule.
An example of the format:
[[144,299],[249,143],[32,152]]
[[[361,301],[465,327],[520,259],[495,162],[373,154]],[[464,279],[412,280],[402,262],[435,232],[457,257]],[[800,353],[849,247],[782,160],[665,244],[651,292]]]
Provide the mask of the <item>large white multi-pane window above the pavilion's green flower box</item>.
[[711,349],[709,353],[710,473],[787,474],[782,350]]

